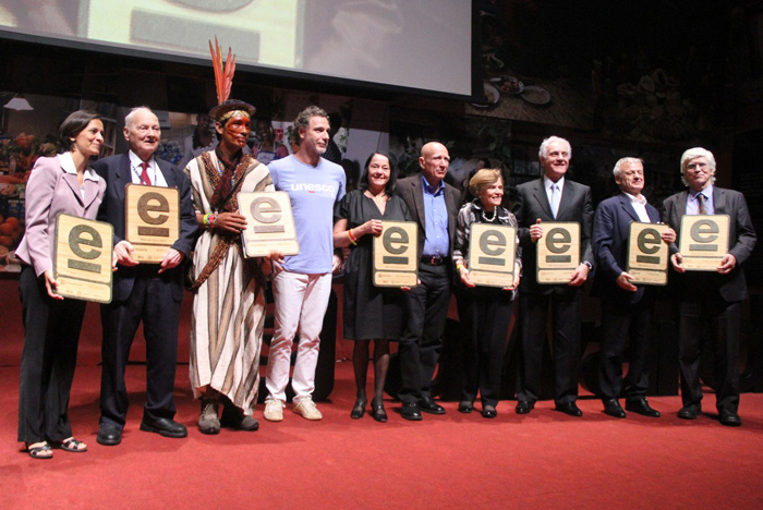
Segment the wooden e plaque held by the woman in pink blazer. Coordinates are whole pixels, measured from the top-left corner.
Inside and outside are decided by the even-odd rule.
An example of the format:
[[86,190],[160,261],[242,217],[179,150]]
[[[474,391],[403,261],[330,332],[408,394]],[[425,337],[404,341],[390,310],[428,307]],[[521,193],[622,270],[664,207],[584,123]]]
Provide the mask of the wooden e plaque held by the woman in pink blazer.
[[111,303],[113,227],[77,216],[56,217],[53,276],[64,298]]

